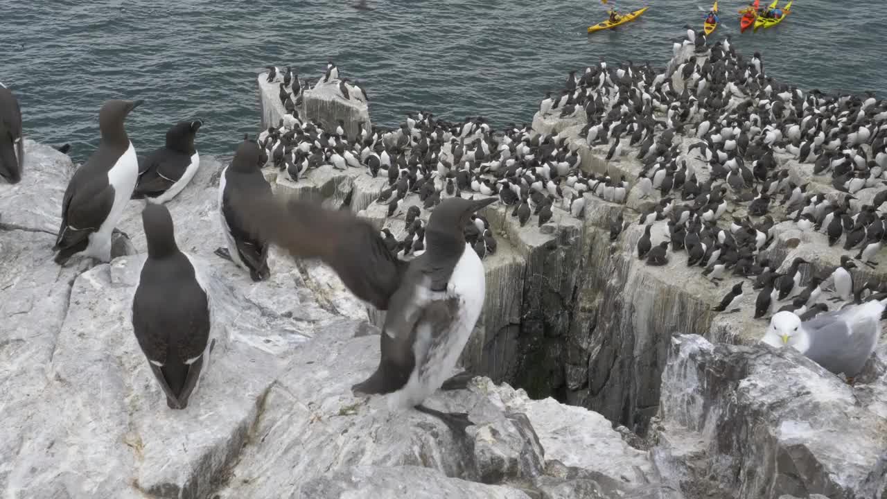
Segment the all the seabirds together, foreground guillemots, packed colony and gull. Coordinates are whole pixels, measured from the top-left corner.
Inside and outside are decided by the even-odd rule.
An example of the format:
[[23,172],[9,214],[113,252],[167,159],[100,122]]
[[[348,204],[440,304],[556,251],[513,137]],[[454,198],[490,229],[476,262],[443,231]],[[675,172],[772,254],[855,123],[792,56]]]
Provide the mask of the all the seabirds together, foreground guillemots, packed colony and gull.
[[[570,72],[560,95],[549,93],[540,104],[543,120],[585,116],[580,140],[601,154],[606,150],[608,164],[641,165],[631,183],[624,175],[585,173],[571,147],[576,139],[535,133],[527,125],[493,131],[483,118],[448,123],[423,111],[395,130],[359,123],[349,136],[345,123],[324,127],[298,109],[305,91],[323,85],[337,90],[337,99],[365,102],[357,83],[340,78],[332,62],[317,82],[300,81],[291,68],[269,67],[267,82],[279,81],[287,115],[256,139],[247,136],[224,168],[218,202],[226,246],[216,254],[254,281],[270,276],[271,245],[330,265],[356,297],[388,311],[379,367],[353,392],[389,394],[389,407],[417,408],[459,432],[470,424],[466,414],[422,402],[472,377],[450,375],[481,313],[482,258],[496,251],[491,226],[478,210],[498,202],[520,226],[543,226],[555,215],[582,218],[585,194],[624,203],[634,191],[653,206],[640,216],[645,232],[637,257],[667,265],[686,253],[687,266],[715,284],[735,281],[717,312],[737,312],[743,294],[756,292],[754,317],[770,319],[762,341],[792,346],[852,381],[875,349],[887,304],[883,283],[854,283],[855,262],[877,265],[887,234],[878,211],[887,201],[887,102],[773,82],[760,55],[742,58],[729,37],[709,44],[688,29],[674,51],[686,60],[671,73],[601,61],[581,75]],[[679,58],[681,52],[688,59]],[[70,179],[53,250],[59,265],[75,256],[109,261],[123,210],[130,199],[145,200],[147,258],[132,325],[169,408],[181,409],[215,345],[212,297],[200,266],[178,249],[164,203],[200,166],[194,140],[202,123],[176,123],[165,147],[137,156],[123,123],[140,104],[109,100],[102,106],[101,142]],[[24,164],[21,114],[5,87],[0,127],[0,176],[16,183]],[[833,196],[841,201],[808,193],[810,185],[793,182],[776,154],[812,163],[817,178],[830,178],[843,193]],[[377,202],[388,204],[389,217],[404,215],[402,236],[391,232],[393,226],[380,232],[349,210],[277,198],[262,171],[269,164],[294,182],[327,164],[387,178]],[[854,194],[873,188],[873,202],[852,208]],[[746,216],[727,222],[728,202],[737,207],[734,214],[745,210]],[[809,264],[803,258],[779,271],[763,257],[774,239],[776,211],[783,222],[825,233],[829,246],[840,244],[848,253],[809,282],[801,280],[799,269]],[[669,236],[654,242],[651,228],[663,221]],[[632,223],[620,212],[611,221],[610,240],[618,241]]]

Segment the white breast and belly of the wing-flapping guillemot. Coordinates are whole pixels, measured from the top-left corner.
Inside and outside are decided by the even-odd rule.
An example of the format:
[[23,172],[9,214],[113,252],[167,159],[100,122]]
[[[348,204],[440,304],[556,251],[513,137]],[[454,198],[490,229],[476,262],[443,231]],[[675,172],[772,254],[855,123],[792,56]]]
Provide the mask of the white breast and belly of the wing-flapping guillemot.
[[434,393],[450,376],[459,361],[471,331],[481,315],[486,294],[483,263],[467,243],[459,263],[453,269],[446,291],[434,293],[431,299],[459,297],[459,320],[443,333],[443,343],[432,347],[431,329],[420,326],[412,352],[416,358],[409,381],[389,397],[391,408],[412,408]]

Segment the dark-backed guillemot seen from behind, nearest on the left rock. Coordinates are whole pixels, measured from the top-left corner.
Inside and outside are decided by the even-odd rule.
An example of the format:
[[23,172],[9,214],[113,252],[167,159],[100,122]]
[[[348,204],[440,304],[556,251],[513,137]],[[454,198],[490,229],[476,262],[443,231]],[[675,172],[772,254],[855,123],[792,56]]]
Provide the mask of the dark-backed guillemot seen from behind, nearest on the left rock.
[[173,409],[188,407],[216,340],[206,282],[178,249],[169,210],[149,203],[142,211],[148,257],[132,298],[132,330],[148,366]]

